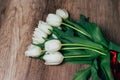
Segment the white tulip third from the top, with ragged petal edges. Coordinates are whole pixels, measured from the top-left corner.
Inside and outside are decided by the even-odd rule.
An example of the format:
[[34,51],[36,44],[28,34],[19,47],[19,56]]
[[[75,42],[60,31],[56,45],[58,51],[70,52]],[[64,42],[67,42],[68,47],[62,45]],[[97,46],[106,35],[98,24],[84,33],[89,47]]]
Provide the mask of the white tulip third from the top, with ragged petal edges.
[[40,28],[40,30],[42,30],[46,34],[50,34],[51,33],[50,30],[53,29],[49,24],[43,21],[39,21],[38,28]]

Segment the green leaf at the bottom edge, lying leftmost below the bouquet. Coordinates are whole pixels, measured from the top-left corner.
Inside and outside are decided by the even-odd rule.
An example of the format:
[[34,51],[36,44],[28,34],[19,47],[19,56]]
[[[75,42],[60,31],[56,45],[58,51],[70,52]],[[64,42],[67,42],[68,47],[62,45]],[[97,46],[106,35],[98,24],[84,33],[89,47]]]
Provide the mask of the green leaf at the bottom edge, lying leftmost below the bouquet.
[[78,71],[74,75],[73,80],[88,80],[90,77],[90,69],[91,67]]

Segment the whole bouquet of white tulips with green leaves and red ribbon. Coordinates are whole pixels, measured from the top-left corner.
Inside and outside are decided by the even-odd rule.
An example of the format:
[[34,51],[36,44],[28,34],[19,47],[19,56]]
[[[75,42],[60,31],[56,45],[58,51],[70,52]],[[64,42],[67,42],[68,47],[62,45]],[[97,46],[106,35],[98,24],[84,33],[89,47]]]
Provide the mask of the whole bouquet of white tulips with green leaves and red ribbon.
[[69,62],[88,64],[73,80],[120,80],[120,46],[104,38],[97,24],[80,15],[69,18],[65,9],[39,21],[25,55],[45,61],[45,65]]

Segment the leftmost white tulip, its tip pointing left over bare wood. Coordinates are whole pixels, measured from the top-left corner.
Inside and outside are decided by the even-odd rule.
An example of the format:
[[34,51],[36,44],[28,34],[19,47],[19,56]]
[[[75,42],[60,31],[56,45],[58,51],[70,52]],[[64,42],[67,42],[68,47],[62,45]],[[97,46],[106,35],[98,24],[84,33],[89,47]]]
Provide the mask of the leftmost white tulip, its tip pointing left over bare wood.
[[28,49],[25,51],[25,55],[30,57],[38,57],[41,54],[42,54],[41,48],[32,44],[29,45]]

